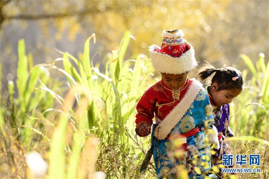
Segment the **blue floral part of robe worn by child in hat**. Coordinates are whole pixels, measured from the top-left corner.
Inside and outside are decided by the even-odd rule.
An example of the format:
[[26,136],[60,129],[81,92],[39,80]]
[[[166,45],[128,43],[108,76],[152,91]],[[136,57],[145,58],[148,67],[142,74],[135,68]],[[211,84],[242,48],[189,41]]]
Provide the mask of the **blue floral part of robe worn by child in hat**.
[[[184,168],[187,169],[189,172],[189,178],[203,178],[202,175],[194,172],[192,167],[197,166],[201,172],[206,172],[211,168],[210,146],[209,144],[205,144],[205,134],[202,131],[202,129],[204,129],[205,121],[208,119],[212,119],[211,123],[209,124],[212,126],[214,120],[212,115],[212,107],[210,105],[206,90],[201,89],[187,113],[170,132],[170,135],[183,134],[193,128],[200,128],[197,134],[187,137],[187,143],[189,145],[189,157],[185,155],[177,158],[170,158],[169,152],[175,151],[172,141],[169,139],[156,139],[154,136],[154,129],[157,125],[153,125],[151,142],[157,178],[176,178],[174,169],[175,166],[179,164],[183,165]],[[197,153],[198,158],[196,160],[196,165],[192,162],[194,158],[193,153]],[[204,166],[201,166],[202,162],[204,162]]]

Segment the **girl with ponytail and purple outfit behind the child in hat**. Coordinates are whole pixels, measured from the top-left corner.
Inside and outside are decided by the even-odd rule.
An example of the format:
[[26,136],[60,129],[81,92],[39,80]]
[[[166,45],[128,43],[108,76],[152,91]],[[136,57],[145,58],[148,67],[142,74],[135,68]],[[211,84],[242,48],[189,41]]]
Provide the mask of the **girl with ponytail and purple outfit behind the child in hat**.
[[[213,75],[213,73],[215,73]],[[214,66],[207,63],[198,72],[200,80],[204,80],[213,75],[211,85],[206,87],[207,94],[211,105],[213,106],[214,125],[218,130],[218,139],[220,148],[214,149],[216,154],[212,155],[212,166],[221,160],[222,154],[227,154],[224,143],[225,137],[234,136],[233,132],[228,127],[229,125],[229,103],[233,98],[238,96],[243,89],[242,73],[233,67],[224,67],[216,69]],[[228,146],[229,148],[229,146]],[[227,146],[226,146],[227,149]],[[219,163],[219,162],[218,162]]]

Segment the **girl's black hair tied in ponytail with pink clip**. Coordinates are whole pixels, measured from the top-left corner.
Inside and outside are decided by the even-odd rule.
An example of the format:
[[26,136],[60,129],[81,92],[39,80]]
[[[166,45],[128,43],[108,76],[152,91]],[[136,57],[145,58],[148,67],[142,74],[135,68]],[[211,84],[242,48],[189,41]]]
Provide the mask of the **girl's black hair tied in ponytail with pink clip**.
[[[233,67],[224,67],[220,69],[216,69],[210,63],[206,63],[203,67],[198,71],[198,77],[200,80],[204,80],[208,78],[215,72],[211,80],[211,85],[216,82],[218,84],[217,91],[221,91],[224,89],[243,89],[243,77],[242,73]],[[238,77],[238,78],[234,78]]]

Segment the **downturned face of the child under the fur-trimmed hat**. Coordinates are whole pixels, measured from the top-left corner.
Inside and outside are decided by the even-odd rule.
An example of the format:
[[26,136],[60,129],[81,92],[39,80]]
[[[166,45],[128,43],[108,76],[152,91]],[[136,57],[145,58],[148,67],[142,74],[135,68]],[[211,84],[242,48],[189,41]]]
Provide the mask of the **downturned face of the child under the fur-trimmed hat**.
[[183,87],[187,81],[188,73],[182,73],[179,75],[162,73],[163,83],[171,89],[177,90]]

